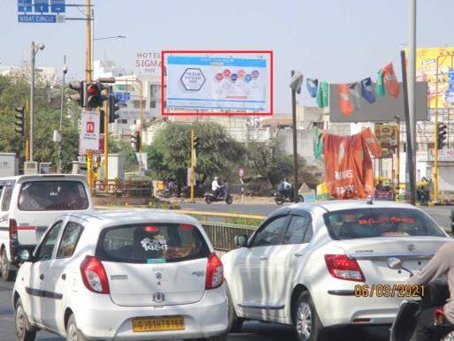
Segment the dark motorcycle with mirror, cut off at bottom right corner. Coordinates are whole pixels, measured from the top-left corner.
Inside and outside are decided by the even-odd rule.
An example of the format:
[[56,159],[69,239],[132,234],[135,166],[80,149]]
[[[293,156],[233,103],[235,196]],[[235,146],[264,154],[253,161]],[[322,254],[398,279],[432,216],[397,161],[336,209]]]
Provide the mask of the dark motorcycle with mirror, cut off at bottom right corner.
[[[404,270],[413,273],[410,269],[405,269],[403,261],[396,257],[387,260],[389,269]],[[396,320],[391,327],[390,341],[413,341],[416,337],[416,327],[418,325],[417,314],[419,310],[429,307],[438,307],[434,314],[434,332],[437,340],[454,341],[454,325],[447,321],[444,316],[442,306],[446,299],[450,297],[448,284],[432,282],[425,286],[424,295],[420,300],[404,299],[396,315]]]

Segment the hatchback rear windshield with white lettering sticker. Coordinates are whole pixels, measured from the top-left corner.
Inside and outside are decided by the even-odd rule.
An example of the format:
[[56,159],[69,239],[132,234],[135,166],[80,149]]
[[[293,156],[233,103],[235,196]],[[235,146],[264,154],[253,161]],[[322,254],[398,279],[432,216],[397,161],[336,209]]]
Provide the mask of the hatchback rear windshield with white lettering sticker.
[[134,224],[103,231],[96,247],[102,261],[166,263],[206,258],[202,233],[191,224]]

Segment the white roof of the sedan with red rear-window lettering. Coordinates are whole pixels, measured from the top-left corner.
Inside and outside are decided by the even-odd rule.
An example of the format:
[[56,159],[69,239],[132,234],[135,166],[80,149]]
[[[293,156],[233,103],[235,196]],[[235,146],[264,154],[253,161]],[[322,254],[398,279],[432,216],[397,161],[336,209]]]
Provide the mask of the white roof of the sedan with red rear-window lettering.
[[396,201],[373,201],[372,204],[367,203],[368,200],[335,200],[335,201],[312,201],[302,202],[289,206],[290,209],[305,208],[323,208],[326,211],[339,211],[343,209],[356,208],[411,208],[418,209],[411,204]]

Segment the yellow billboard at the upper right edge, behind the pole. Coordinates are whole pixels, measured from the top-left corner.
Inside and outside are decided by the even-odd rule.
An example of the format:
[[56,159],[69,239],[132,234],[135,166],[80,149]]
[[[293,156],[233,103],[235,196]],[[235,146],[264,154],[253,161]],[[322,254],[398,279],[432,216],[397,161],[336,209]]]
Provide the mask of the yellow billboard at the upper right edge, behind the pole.
[[[438,108],[449,108],[452,94],[450,92],[450,70],[454,69],[454,57],[442,56],[452,53],[454,48],[417,49],[416,80],[428,82],[428,108],[436,108],[436,60],[438,58]],[[448,102],[446,101],[448,99]]]

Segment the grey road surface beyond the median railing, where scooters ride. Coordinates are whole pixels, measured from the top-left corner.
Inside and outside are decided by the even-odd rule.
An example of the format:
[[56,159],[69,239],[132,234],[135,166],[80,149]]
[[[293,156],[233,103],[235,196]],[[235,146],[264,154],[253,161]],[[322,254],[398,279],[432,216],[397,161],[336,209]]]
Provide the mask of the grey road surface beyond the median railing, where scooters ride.
[[[289,204],[286,204],[289,205]],[[204,212],[222,212],[222,213],[237,213],[244,215],[257,215],[257,216],[268,216],[277,208],[280,208],[276,204],[250,204],[250,203],[233,203],[227,205],[225,202],[214,202],[210,205],[205,203],[182,203],[181,208],[190,209],[195,211]],[[435,207],[421,207],[435,221],[442,227],[450,226],[450,210],[454,207],[451,206],[435,206]]]

